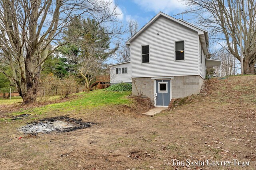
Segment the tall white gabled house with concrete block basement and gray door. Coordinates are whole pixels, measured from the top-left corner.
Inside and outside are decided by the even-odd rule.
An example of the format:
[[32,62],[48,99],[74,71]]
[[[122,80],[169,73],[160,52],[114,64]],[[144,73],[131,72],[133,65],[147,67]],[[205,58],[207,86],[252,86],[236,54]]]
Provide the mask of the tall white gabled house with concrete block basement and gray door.
[[[172,99],[198,94],[206,66],[222,63],[206,59],[206,30],[162,12],[126,45],[130,46],[132,94],[150,98],[154,106],[167,107]],[[128,62],[125,64],[128,67]],[[123,67],[122,63],[115,66]]]

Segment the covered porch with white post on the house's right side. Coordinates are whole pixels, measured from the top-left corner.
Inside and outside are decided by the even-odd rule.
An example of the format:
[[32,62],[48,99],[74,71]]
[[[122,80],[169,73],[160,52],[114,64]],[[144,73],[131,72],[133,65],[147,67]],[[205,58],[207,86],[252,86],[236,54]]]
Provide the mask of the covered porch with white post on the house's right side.
[[213,74],[207,74],[207,78],[222,77],[222,60],[205,59],[206,67],[214,67],[215,71]]

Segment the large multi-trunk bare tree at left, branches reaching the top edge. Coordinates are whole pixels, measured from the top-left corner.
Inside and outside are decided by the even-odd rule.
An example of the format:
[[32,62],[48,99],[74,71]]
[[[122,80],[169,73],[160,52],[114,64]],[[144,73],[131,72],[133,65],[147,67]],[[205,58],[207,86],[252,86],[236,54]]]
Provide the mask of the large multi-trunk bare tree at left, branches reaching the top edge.
[[94,18],[100,24],[112,22],[108,24],[110,32],[119,28],[113,22],[118,15],[116,8],[110,10],[110,3],[105,0],[0,1],[0,60],[6,61],[12,74],[1,71],[16,87],[23,104],[36,100],[44,61],[64,44],[63,31],[70,20]]

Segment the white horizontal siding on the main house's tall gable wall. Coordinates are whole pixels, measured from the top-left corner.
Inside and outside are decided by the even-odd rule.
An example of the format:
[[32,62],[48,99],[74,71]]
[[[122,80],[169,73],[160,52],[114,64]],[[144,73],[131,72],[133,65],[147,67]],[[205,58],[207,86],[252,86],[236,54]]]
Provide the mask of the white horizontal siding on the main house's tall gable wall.
[[[185,61],[175,61],[176,41],[184,41]],[[131,42],[132,78],[199,75],[198,44],[196,31],[160,16]],[[150,46],[149,64],[141,64],[142,45]]]

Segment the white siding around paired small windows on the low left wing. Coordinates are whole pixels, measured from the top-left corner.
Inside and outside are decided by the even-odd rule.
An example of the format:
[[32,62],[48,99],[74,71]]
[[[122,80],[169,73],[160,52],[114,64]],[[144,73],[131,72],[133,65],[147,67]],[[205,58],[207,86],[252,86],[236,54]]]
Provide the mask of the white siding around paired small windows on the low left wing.
[[[116,74],[116,68],[121,68],[120,74]],[[122,68],[127,68],[127,73],[122,73]],[[114,66],[110,66],[110,83],[131,83],[131,63],[123,63]]]

